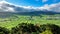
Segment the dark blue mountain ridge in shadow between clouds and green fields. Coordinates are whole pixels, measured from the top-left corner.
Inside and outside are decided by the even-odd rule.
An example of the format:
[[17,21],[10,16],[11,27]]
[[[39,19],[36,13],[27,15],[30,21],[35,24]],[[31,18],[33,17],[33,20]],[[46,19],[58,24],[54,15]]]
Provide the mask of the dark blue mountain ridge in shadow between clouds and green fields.
[[43,14],[43,15],[54,15],[54,14],[60,14],[60,13],[56,13],[56,12],[52,12],[52,11],[34,11],[34,12],[20,12],[20,13],[17,13],[19,15],[35,15],[35,16],[39,16],[40,14]]

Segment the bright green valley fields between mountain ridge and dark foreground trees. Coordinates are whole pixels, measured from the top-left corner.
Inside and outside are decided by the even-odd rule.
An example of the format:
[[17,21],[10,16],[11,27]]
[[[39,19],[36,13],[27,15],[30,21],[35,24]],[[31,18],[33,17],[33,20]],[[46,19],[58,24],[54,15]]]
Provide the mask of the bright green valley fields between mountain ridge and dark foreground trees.
[[60,16],[56,15],[40,15],[40,16],[27,16],[27,15],[14,15],[7,18],[0,18],[0,26],[11,29],[19,23],[32,23],[32,24],[56,24],[60,26]]

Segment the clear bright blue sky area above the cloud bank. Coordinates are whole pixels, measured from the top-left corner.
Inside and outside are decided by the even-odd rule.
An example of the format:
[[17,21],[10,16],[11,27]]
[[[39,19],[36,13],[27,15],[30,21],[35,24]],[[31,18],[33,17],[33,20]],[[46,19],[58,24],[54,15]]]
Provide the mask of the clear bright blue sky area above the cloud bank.
[[50,5],[60,2],[60,0],[6,0],[6,1],[16,5],[33,7],[40,7],[45,4]]

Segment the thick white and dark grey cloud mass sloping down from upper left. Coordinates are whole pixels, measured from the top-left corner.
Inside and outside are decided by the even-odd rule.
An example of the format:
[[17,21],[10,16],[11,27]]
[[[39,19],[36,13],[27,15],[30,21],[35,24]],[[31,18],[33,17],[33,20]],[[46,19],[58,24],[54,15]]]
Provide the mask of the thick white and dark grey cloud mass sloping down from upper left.
[[[0,2],[0,10],[4,10],[4,12],[29,12],[34,7],[31,6],[18,6],[12,3],[8,3],[6,1]],[[0,11],[1,12],[1,11]]]

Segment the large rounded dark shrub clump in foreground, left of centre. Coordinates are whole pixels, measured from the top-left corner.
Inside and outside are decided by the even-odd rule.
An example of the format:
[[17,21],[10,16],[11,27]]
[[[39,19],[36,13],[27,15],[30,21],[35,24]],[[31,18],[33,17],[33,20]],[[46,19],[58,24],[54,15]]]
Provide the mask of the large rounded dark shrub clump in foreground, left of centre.
[[21,23],[18,26],[12,28],[12,33],[32,33],[32,32],[40,32],[40,27],[35,26],[34,24],[27,24],[27,23]]

